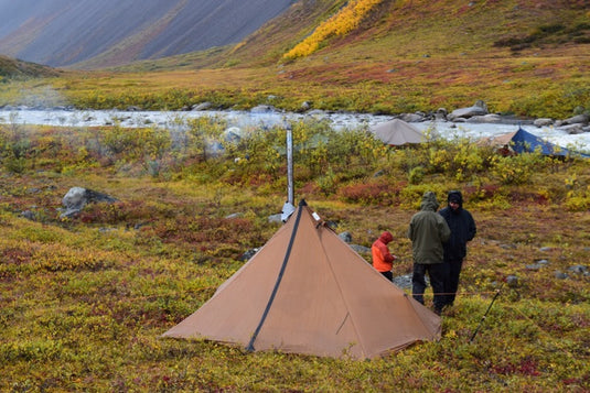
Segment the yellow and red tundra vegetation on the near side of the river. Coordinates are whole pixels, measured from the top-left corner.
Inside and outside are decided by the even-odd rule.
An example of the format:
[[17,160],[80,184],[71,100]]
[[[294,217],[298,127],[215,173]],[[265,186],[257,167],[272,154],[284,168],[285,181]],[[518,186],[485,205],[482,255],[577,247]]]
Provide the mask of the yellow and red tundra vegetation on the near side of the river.
[[[4,124],[0,390],[590,389],[587,160],[502,156],[461,137],[389,148],[365,129],[290,127],[297,199],[357,244],[391,231],[396,276],[411,271],[405,233],[422,193],[463,190],[479,231],[440,341],[355,361],[161,339],[279,228],[268,217],[286,198],[286,130],[227,141],[215,118],[174,130]],[[118,201],[64,218],[73,186]]]

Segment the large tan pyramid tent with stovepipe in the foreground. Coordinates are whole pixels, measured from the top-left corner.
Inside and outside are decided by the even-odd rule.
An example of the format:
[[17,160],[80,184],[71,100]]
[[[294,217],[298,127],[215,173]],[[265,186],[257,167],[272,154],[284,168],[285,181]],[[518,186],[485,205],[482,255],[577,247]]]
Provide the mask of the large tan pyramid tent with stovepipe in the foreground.
[[375,271],[302,200],[213,297],[162,337],[369,359],[440,334],[439,316]]

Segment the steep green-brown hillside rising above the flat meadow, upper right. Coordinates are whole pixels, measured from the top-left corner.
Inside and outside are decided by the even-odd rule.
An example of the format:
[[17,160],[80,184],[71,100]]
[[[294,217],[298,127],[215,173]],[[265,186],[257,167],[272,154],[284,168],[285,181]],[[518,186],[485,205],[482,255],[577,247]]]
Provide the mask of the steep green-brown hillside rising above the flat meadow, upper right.
[[[339,64],[423,59],[435,56],[490,57],[559,55],[576,50],[584,56],[590,44],[590,6],[573,1],[383,1],[362,0],[367,12],[345,33],[332,32],[319,50],[302,56]],[[151,62],[168,67],[203,67],[213,62],[240,66],[286,63],[285,55],[318,30],[326,30],[346,1],[293,4],[238,45],[214,53],[193,53]],[[354,3],[353,3],[354,4]],[[345,23],[345,22],[342,22]],[[528,52],[527,52],[528,51]],[[266,61],[266,62],[264,62]]]

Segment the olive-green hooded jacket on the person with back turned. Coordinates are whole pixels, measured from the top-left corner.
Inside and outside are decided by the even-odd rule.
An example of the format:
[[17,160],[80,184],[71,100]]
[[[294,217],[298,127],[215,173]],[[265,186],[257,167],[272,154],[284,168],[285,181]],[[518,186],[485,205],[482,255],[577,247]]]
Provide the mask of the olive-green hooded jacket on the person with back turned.
[[449,240],[451,230],[444,218],[437,212],[439,203],[432,192],[422,196],[420,211],[411,217],[408,238],[415,263],[442,263],[442,243]]

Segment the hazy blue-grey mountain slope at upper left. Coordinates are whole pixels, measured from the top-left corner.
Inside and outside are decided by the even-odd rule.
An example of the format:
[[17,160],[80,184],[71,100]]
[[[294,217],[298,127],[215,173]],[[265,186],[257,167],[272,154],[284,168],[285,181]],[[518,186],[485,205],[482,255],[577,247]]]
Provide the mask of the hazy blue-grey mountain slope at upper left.
[[0,54],[114,66],[237,43],[294,0],[0,0]]

